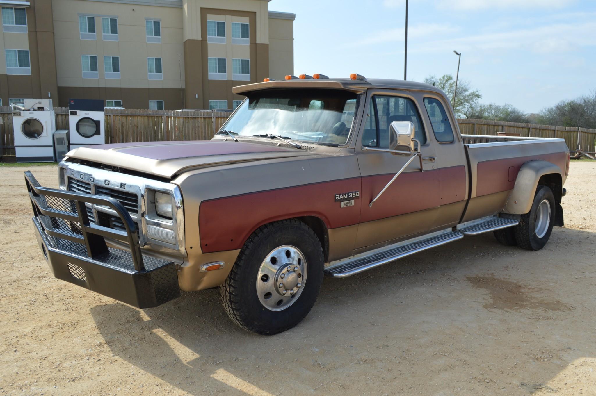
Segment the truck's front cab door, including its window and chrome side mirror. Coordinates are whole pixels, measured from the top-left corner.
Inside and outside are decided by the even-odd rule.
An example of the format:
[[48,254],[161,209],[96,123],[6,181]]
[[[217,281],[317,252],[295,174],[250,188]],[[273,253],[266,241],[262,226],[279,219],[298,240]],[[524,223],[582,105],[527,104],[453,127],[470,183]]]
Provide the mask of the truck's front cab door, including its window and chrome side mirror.
[[[434,144],[430,141],[420,107],[419,94],[395,90],[369,90],[356,155],[362,175],[361,217],[356,236],[356,250],[390,244],[432,229],[439,213],[439,173]],[[389,147],[389,125],[393,121],[411,121],[421,144],[425,171],[414,160],[399,175],[372,207],[368,204],[408,161],[407,155],[366,151],[363,146]]]

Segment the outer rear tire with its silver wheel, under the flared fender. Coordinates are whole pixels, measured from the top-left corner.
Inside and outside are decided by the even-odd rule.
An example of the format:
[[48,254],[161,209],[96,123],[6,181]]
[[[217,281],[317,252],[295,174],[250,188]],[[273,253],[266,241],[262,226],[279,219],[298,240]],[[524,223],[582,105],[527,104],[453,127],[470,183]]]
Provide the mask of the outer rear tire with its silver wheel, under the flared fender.
[[520,248],[541,250],[551,236],[555,220],[555,197],[547,186],[536,188],[529,213],[522,214],[515,227],[516,241]]

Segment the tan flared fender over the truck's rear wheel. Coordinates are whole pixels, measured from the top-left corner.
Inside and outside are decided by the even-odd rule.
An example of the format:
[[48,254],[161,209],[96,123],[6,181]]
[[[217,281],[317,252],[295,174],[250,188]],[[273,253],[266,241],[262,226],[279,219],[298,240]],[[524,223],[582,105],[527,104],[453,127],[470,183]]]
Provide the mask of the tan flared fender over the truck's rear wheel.
[[516,183],[505,204],[504,213],[525,214],[532,208],[538,185],[548,186],[555,203],[561,202],[563,195],[563,171],[560,167],[544,160],[527,161],[517,173]]

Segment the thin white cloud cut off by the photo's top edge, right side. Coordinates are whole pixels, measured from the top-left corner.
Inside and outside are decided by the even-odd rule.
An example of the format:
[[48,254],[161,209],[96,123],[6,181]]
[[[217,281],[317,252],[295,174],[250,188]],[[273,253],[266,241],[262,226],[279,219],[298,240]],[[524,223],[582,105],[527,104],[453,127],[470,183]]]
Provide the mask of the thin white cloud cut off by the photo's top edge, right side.
[[[385,0],[398,2],[398,0]],[[437,8],[442,10],[486,10],[489,8],[563,8],[576,0],[439,0]]]

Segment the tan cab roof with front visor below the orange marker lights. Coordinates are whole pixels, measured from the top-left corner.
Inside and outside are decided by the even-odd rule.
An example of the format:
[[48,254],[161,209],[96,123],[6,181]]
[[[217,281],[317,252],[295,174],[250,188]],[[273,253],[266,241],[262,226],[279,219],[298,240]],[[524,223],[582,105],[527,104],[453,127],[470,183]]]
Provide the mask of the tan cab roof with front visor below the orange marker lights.
[[415,81],[392,80],[392,79],[291,79],[280,81],[268,81],[248,85],[240,85],[232,88],[232,92],[238,95],[247,95],[249,92],[260,91],[269,88],[334,88],[344,89],[355,93],[364,93],[368,88],[403,89],[406,91],[428,91],[436,92],[442,96],[445,93],[432,85]]

